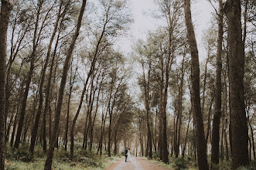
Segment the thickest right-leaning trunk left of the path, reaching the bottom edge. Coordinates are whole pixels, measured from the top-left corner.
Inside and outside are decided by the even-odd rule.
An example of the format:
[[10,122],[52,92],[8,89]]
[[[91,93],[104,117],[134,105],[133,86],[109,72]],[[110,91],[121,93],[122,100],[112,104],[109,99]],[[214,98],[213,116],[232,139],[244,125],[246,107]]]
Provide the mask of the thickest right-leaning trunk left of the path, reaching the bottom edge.
[[81,26],[81,22],[82,22],[82,19],[83,19],[86,2],[87,2],[87,0],[83,0],[82,6],[80,8],[80,13],[79,13],[78,20],[77,20],[77,29],[76,29],[75,35],[72,38],[72,42],[70,44],[70,47],[67,51],[67,57],[65,59],[65,63],[64,63],[64,66],[63,66],[63,74],[62,74],[62,77],[61,77],[59,98],[58,98],[55,117],[54,117],[53,134],[52,134],[52,137],[51,137],[52,139],[51,139],[51,143],[49,145],[49,151],[48,151],[48,154],[47,154],[47,159],[46,159],[46,163],[45,163],[45,167],[44,167],[45,170],[50,170],[52,168],[53,151],[54,151],[54,145],[55,145],[56,140],[57,140],[56,137],[57,137],[57,134],[59,133],[60,112],[61,112],[61,107],[62,107],[62,102],[63,102],[63,92],[64,92],[65,84],[66,84],[66,81],[67,81],[68,67],[69,67],[70,59],[72,57],[74,46],[76,44],[77,37],[79,35],[80,26]]

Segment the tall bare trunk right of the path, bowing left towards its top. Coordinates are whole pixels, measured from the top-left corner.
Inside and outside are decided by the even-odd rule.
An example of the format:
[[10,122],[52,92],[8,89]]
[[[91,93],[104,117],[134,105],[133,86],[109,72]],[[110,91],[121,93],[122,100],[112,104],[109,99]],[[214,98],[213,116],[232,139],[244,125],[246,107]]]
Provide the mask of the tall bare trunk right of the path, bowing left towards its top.
[[198,166],[200,170],[209,169],[207,163],[207,151],[204,137],[203,116],[200,107],[200,69],[199,56],[196,46],[196,36],[191,19],[190,0],[184,4],[186,29],[188,32],[190,53],[191,53],[191,84],[193,98],[193,120],[196,128],[196,151],[198,155]]

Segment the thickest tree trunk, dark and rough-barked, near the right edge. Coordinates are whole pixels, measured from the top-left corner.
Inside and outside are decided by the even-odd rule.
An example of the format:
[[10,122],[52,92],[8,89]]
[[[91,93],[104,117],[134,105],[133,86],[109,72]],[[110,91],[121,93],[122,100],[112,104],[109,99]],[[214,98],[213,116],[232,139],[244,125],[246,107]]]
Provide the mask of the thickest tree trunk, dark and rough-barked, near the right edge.
[[249,164],[248,128],[244,107],[244,55],[241,32],[241,1],[227,0],[227,35],[230,74],[230,124],[232,131],[232,168]]

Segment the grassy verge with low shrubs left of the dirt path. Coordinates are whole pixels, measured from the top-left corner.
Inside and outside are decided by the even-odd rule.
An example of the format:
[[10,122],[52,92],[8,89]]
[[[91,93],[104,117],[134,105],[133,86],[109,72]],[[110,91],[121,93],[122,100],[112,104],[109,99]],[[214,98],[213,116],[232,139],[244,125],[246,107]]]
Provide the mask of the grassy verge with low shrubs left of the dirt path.
[[[34,155],[29,153],[28,146],[21,146],[19,149],[7,148],[5,169],[6,170],[26,170],[26,169],[43,169],[46,161],[46,154],[42,148],[36,148]],[[69,152],[59,149],[54,151],[53,170],[102,170],[114,162],[118,162],[122,157],[117,155],[109,158],[106,153],[99,157],[94,151],[76,150],[74,158],[71,161]]]

